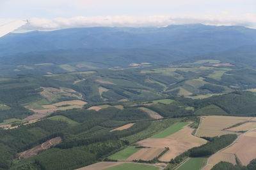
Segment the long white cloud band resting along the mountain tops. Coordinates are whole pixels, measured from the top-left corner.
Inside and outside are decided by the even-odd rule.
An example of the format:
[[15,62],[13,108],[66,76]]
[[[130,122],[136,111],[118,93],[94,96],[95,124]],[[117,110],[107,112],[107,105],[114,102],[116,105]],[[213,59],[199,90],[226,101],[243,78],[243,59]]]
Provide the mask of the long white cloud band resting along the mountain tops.
[[156,15],[150,17],[131,16],[99,16],[99,17],[72,17],[72,18],[31,18],[29,24],[22,30],[54,30],[73,27],[161,27],[173,24],[205,24],[205,25],[241,25],[256,28],[256,14],[204,16],[167,16]]

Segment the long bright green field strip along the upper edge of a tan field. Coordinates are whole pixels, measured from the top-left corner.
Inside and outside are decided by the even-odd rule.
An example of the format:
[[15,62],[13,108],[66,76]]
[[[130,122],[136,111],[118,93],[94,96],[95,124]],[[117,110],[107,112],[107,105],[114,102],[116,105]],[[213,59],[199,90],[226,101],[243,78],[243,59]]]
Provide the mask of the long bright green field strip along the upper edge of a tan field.
[[165,138],[167,136],[170,136],[171,134],[174,134],[175,132],[178,132],[180,129],[182,129],[182,127],[188,124],[189,124],[188,122],[179,122],[177,124],[174,124],[168,127],[163,132],[160,132],[159,134],[152,136],[151,138]]

